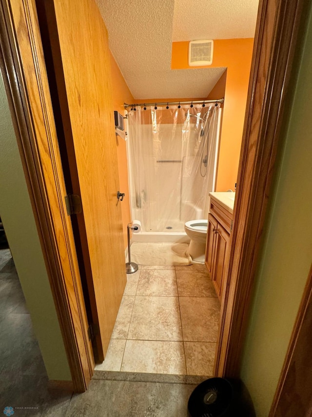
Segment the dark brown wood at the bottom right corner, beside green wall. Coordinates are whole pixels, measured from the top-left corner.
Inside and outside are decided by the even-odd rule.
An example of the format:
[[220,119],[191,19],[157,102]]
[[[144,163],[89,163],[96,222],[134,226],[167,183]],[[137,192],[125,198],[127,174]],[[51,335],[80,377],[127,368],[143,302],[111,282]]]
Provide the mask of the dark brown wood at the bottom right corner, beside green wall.
[[[311,322],[312,322],[312,265],[300,307],[298,309],[288,351],[285,356],[282,372],[279,377],[269,417],[286,416],[287,411],[295,405],[296,412],[308,415],[310,404],[311,375]],[[305,363],[306,375],[303,375],[302,365]],[[297,371],[297,372],[296,372]],[[309,378],[309,380],[307,379]],[[302,386],[301,386],[302,384]],[[303,391],[309,392],[309,403],[306,398],[300,404],[303,409],[299,411],[298,400]],[[301,414],[301,413],[305,414]],[[307,413],[307,414],[306,414]],[[310,411],[311,413],[311,411]]]

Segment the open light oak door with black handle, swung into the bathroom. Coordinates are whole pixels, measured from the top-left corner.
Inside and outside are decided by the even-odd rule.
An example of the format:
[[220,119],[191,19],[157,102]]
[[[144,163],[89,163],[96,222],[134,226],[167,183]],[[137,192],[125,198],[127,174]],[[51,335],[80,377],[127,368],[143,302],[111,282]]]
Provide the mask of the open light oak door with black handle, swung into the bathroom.
[[79,241],[102,361],[126,283],[107,30],[94,0],[37,0],[37,9],[50,86],[57,88],[57,98],[51,92],[66,144],[63,166],[82,200]]

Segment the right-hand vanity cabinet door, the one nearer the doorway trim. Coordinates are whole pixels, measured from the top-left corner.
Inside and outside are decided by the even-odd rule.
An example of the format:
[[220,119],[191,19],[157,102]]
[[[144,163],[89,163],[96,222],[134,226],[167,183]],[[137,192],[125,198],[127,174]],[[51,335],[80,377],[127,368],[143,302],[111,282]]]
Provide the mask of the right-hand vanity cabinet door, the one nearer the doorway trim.
[[212,279],[219,298],[222,295],[222,283],[226,273],[227,253],[230,235],[218,224],[215,239],[215,256]]

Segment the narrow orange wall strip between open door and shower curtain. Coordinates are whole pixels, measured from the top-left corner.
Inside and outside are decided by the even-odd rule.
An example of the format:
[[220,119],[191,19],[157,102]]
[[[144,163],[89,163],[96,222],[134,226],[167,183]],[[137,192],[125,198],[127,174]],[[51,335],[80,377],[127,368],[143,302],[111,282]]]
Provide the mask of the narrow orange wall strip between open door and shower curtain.
[[[112,69],[112,85],[113,85],[113,106],[114,110],[124,114],[123,103],[133,103],[134,98],[120,72],[116,61],[111,54]],[[118,158],[118,174],[119,174],[119,191],[125,193],[125,198],[121,202],[123,241],[124,247],[127,247],[127,224],[131,221],[130,200],[129,200],[129,183],[128,183],[128,162],[126,141],[116,136],[117,141],[117,158]]]

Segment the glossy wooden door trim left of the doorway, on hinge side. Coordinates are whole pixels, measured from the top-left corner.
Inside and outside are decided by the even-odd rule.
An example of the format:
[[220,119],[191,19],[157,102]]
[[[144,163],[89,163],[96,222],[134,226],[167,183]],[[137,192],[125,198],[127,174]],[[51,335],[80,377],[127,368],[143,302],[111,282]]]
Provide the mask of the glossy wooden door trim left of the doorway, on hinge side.
[[33,0],[1,1],[1,72],[74,390],[84,392],[94,361],[39,34]]

